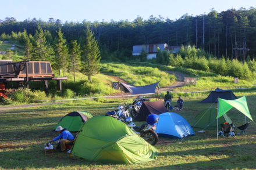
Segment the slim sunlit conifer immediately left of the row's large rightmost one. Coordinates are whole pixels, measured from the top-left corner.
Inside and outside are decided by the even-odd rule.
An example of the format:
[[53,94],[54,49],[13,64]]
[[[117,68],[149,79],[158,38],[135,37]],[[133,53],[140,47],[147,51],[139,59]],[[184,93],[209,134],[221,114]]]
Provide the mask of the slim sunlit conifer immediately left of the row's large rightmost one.
[[80,53],[80,45],[77,44],[76,40],[73,40],[69,46],[69,68],[73,71],[74,82],[76,81],[74,73],[79,71]]

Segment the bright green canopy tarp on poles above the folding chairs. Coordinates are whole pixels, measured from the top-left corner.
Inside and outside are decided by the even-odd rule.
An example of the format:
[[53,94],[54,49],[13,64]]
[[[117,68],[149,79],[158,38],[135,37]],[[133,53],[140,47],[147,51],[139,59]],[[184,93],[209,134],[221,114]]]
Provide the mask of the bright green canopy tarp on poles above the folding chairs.
[[[233,107],[241,111],[241,113],[243,113],[244,115],[246,115],[246,117],[250,118],[250,120],[253,121],[253,118],[251,117],[251,114],[247,105],[246,96],[243,96],[243,97],[240,97],[239,99],[234,99],[234,100],[225,100],[225,99],[219,98],[218,116],[216,117],[216,119],[218,120],[219,117],[221,117],[223,114],[225,114],[227,111],[229,111]],[[218,133],[218,129],[217,129],[217,133]],[[218,135],[217,135],[217,139],[218,139]]]

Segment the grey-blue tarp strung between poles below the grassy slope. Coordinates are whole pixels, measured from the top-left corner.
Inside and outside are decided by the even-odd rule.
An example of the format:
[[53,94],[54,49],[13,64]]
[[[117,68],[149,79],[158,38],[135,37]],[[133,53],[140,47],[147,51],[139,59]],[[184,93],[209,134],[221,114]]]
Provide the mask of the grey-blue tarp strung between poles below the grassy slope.
[[155,88],[157,88],[158,82],[155,82],[154,84],[145,85],[145,86],[134,86],[130,84],[125,84],[123,82],[120,82],[120,84],[123,86],[123,89],[125,93],[131,93],[131,95],[137,95],[137,94],[145,94],[145,93],[151,93],[155,94]]

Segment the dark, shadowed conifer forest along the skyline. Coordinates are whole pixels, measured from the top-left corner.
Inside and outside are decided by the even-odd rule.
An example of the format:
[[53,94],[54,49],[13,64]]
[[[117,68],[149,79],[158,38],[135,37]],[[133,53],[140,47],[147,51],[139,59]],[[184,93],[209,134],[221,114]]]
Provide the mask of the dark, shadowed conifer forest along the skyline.
[[[237,56],[240,60],[244,53],[242,49],[250,49],[246,51],[246,55],[253,59],[256,50],[254,38],[256,9],[253,7],[229,9],[220,13],[211,9],[208,14],[204,13],[200,16],[185,14],[175,21],[152,15],[147,20],[137,16],[131,22],[112,20],[109,23],[104,20],[62,23],[61,20],[53,18],[49,21],[35,18],[16,21],[13,17],[6,17],[5,20],[0,20],[0,33],[11,35],[15,32],[18,34],[25,29],[28,35],[34,36],[38,26],[48,31],[53,39],[58,35],[56,31],[61,28],[67,44],[70,44],[72,40],[77,40],[80,44],[86,36],[84,29],[90,27],[98,41],[99,48],[105,50],[102,59],[118,57],[119,60],[125,61],[132,57],[133,45],[141,44],[191,45],[204,49],[209,55],[214,55],[218,59],[222,56],[226,59],[233,59],[236,57],[235,48],[238,49]],[[1,36],[1,39],[3,40],[4,36]],[[50,37],[47,38],[48,44],[52,43],[51,41]],[[109,54],[113,56],[110,57]]]

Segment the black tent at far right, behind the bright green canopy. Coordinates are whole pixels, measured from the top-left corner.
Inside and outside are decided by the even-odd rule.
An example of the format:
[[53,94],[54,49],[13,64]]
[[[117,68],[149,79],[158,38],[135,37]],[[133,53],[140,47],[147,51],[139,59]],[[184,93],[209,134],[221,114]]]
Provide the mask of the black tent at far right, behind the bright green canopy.
[[218,102],[218,97],[226,100],[234,100],[237,97],[234,95],[232,91],[225,91],[219,88],[216,88],[215,91],[212,91],[209,96],[202,100],[200,103],[216,103]]

